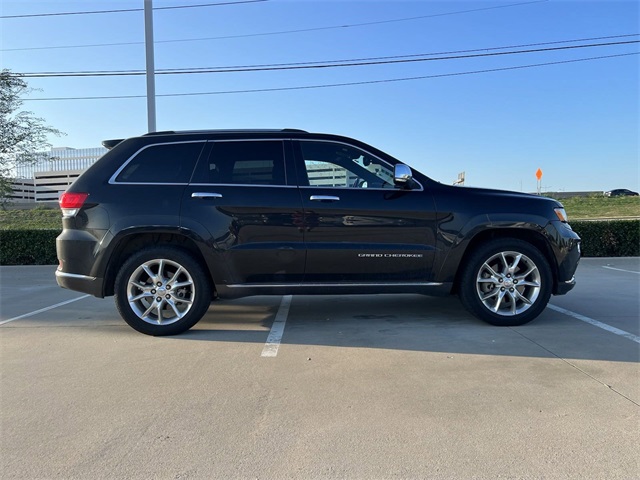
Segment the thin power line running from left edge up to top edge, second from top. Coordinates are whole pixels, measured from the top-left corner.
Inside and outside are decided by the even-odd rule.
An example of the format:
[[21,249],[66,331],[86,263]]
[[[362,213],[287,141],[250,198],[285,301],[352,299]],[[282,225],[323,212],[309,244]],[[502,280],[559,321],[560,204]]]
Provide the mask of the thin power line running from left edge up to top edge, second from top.
[[[264,1],[264,0],[260,0],[260,1]],[[240,34],[240,35],[225,35],[225,36],[218,36],[218,37],[185,38],[185,39],[176,39],[176,40],[158,40],[155,43],[156,44],[160,44],[160,43],[202,42],[202,41],[209,41],[209,40],[227,40],[227,39],[233,39],[233,38],[264,37],[264,36],[271,36],[271,35],[288,35],[288,34],[292,34],[292,33],[316,32],[316,31],[321,31],[321,30],[335,30],[335,29],[355,28],[355,27],[366,27],[366,26],[371,26],[371,25],[382,25],[382,24],[386,24],[386,23],[408,22],[408,21],[413,21],[413,20],[421,20],[421,19],[425,19],[425,18],[445,17],[445,16],[450,16],[450,15],[461,15],[461,14],[474,13],[474,12],[480,12],[480,11],[485,11],[485,10],[495,10],[495,9],[499,9],[499,8],[518,7],[518,6],[521,6],[521,5],[530,5],[530,4],[534,4],[534,3],[545,3],[545,2],[548,2],[548,1],[549,0],[534,0],[534,1],[529,1],[529,2],[510,3],[510,4],[507,4],[507,5],[498,5],[498,6],[494,6],[494,7],[474,8],[474,9],[470,9],[470,10],[457,10],[457,11],[453,11],[453,12],[435,13],[435,14],[431,14],[431,15],[420,15],[420,16],[416,16],[416,17],[402,17],[402,18],[396,18],[396,19],[378,20],[378,21],[375,21],[375,22],[353,23],[353,24],[346,24],[346,25],[345,24],[343,24],[343,25],[331,25],[331,26],[326,26],[326,27],[302,28],[302,29],[296,29],[296,30],[280,30],[280,31],[276,31],[276,32],[247,33],[247,34]],[[241,3],[241,2],[235,2],[235,3]],[[164,8],[169,8],[169,7],[164,7]],[[141,9],[136,9],[136,11],[138,11],[138,10],[141,10]],[[3,17],[0,17],[0,18],[3,18]],[[48,47],[6,48],[6,49],[1,49],[0,51],[2,51],[2,52],[17,52],[17,51],[29,51],[29,50],[51,50],[51,49],[90,48],[90,47],[115,47],[115,46],[124,46],[124,45],[143,45],[143,44],[144,44],[144,42],[94,43],[94,44],[87,44],[87,45],[59,45],[59,46],[48,46]]]

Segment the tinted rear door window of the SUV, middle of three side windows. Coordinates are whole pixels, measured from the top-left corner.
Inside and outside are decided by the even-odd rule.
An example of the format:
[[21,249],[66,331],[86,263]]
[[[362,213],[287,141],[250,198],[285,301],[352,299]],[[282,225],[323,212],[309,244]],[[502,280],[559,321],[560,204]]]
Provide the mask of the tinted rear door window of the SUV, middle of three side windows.
[[281,140],[214,142],[209,160],[194,183],[284,185],[284,146]]

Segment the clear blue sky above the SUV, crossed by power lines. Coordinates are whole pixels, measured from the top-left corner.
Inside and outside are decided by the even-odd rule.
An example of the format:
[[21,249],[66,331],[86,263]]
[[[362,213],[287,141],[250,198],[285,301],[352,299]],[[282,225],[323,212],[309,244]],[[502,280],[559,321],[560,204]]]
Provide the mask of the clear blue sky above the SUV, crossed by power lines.
[[[214,1],[154,0],[153,6]],[[156,10],[156,69],[326,62],[640,33],[636,1],[525,1],[270,0]],[[142,6],[142,0],[3,0],[0,15]],[[371,24],[356,25],[363,23]],[[141,11],[5,18],[0,27],[2,68],[15,72],[145,67]],[[255,35],[290,30],[309,31]],[[235,38],[173,42],[209,37]],[[127,45],[51,48],[105,43]],[[359,67],[158,75],[156,93],[428,77],[634,53],[638,45]],[[535,171],[541,168],[543,191],[637,191],[638,57],[342,87],[159,97],[157,127],[302,128],[358,138],[443,183],[465,171],[467,185],[535,191]],[[39,89],[31,99],[146,94],[143,76],[28,82]],[[24,108],[67,134],[52,138],[54,146],[94,147],[104,139],[147,131],[145,98],[28,101]]]

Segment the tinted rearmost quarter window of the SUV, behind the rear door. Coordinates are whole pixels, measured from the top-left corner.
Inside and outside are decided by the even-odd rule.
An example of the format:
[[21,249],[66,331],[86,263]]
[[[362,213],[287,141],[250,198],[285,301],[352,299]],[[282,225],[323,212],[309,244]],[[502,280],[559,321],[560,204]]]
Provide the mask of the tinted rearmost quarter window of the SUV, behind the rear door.
[[116,176],[124,183],[189,183],[205,142],[164,143],[140,150]]

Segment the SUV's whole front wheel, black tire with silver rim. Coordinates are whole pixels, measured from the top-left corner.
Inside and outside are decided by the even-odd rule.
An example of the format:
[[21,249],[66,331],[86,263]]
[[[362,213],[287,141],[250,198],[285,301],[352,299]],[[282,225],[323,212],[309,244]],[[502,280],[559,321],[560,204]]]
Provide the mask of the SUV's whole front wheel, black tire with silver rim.
[[528,242],[492,240],[477,248],[462,268],[462,304],[492,325],[524,325],[549,303],[553,282],[549,262]]

